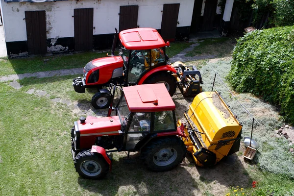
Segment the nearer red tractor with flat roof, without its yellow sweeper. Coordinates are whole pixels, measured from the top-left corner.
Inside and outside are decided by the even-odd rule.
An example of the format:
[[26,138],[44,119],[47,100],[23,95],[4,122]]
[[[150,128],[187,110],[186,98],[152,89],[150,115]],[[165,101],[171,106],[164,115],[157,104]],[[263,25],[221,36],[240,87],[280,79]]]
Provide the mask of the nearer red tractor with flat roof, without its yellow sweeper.
[[[113,93],[114,94],[114,93]],[[115,151],[140,151],[141,159],[152,171],[176,167],[186,155],[177,127],[175,105],[164,84],[123,87],[116,116],[88,116],[74,122],[72,154],[79,175],[98,179],[111,170]]]

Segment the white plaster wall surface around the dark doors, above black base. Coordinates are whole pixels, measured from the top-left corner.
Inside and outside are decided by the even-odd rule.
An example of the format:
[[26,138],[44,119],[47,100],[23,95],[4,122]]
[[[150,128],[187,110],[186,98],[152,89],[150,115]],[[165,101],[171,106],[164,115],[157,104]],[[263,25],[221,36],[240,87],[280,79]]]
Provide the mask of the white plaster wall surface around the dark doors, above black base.
[[1,0],[6,42],[25,41],[25,11],[46,11],[47,38],[73,37],[73,9],[94,8],[94,35],[114,33],[119,29],[121,5],[139,5],[138,25],[161,28],[165,3],[180,3],[178,26],[190,26],[194,0],[68,0],[56,2],[10,2]]

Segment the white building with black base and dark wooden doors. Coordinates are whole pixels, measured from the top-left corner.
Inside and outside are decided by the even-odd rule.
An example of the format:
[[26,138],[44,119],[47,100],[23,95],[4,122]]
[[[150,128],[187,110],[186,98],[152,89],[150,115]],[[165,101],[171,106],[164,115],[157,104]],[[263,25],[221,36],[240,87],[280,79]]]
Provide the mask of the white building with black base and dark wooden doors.
[[[200,1],[202,14],[196,15],[203,17],[205,1]],[[220,15],[218,0],[206,1],[214,1],[217,11],[213,14]],[[109,48],[115,27],[120,31],[152,27],[165,40],[186,40],[193,13],[199,10],[196,2],[199,4],[199,0],[0,0],[0,10],[8,55],[45,54]]]

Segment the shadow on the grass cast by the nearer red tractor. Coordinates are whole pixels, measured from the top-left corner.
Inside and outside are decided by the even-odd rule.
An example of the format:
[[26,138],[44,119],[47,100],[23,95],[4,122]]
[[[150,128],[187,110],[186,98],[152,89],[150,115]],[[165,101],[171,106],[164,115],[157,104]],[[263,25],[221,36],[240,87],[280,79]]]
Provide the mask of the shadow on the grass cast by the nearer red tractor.
[[[182,196],[199,192],[198,184],[190,172],[180,164],[172,171],[148,171],[139,153],[131,153],[135,163],[125,163],[125,152],[112,153],[112,172],[100,180],[87,180],[78,177],[79,185],[89,192],[108,195],[140,196]],[[194,192],[194,193],[193,193]]]

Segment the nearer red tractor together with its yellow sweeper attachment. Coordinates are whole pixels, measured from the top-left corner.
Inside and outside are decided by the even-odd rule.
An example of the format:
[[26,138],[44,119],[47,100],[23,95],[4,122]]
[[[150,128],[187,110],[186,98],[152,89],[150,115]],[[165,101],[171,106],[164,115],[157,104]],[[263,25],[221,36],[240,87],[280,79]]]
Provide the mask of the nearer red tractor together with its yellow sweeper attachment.
[[108,153],[115,151],[140,151],[147,168],[161,172],[181,163],[187,151],[196,165],[212,166],[239,150],[242,125],[217,92],[198,94],[185,116],[187,123],[176,122],[175,104],[164,84],[123,87],[107,117],[74,122],[76,172],[100,178],[111,170]]

